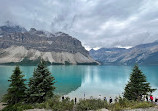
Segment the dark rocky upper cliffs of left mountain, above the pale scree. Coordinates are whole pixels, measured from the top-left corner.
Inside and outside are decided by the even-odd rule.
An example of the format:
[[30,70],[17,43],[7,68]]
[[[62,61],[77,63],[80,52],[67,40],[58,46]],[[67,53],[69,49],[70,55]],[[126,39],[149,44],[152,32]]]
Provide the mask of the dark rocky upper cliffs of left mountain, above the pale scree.
[[0,48],[24,46],[26,49],[33,48],[39,51],[80,52],[85,56],[89,54],[79,40],[63,32],[53,34],[35,28],[23,32],[20,26],[1,26],[0,29],[5,32],[0,37]]

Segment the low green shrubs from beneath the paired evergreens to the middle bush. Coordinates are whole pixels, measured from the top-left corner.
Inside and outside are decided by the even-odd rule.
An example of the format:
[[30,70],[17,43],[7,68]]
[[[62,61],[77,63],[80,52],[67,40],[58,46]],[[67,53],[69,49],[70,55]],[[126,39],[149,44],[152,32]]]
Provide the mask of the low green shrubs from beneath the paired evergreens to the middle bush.
[[60,101],[59,96],[53,96],[53,98],[46,100],[43,103],[35,104],[15,104],[8,105],[2,111],[23,111],[27,109],[51,109],[52,111],[72,111],[74,107],[74,101],[70,98]]

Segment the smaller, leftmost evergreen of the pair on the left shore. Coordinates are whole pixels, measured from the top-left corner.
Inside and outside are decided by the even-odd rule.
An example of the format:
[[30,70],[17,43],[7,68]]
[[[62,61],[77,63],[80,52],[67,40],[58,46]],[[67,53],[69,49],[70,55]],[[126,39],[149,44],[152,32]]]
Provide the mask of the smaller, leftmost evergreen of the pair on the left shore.
[[26,86],[24,84],[25,79],[23,79],[24,75],[20,71],[19,66],[15,67],[13,74],[8,80],[10,83],[7,94],[3,97],[3,102],[6,102],[8,105],[14,105],[16,103],[24,101],[26,97]]

